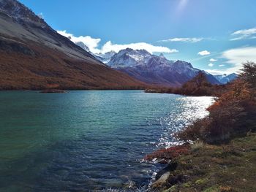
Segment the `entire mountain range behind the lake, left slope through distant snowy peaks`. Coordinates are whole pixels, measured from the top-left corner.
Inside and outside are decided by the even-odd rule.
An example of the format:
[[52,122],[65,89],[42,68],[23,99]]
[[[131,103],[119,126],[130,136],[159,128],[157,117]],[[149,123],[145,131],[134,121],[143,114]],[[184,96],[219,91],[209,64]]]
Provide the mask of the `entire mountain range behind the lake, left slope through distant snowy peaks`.
[[[180,86],[200,72],[186,61],[169,61],[146,50],[93,54],[16,0],[0,0],[0,54],[0,89]],[[204,73],[212,84],[236,78]]]

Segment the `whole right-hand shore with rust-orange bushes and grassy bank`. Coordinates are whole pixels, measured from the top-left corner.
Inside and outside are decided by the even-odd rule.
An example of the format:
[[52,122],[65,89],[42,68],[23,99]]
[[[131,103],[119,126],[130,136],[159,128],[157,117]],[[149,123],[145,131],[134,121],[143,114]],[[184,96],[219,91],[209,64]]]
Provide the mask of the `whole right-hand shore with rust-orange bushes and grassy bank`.
[[[197,85],[195,79],[192,82]],[[167,163],[165,174],[157,177],[152,188],[256,191],[256,64],[244,64],[238,79],[217,93],[219,97],[207,109],[209,115],[176,134],[190,144],[146,156]]]

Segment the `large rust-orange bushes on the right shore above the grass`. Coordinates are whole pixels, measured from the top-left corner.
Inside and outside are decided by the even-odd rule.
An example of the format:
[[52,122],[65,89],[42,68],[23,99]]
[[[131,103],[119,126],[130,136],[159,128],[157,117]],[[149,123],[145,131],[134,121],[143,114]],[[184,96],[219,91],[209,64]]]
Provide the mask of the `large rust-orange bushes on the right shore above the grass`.
[[246,63],[238,80],[227,85],[217,101],[208,107],[209,115],[197,120],[178,137],[201,139],[208,143],[228,142],[236,136],[256,130],[256,64]]

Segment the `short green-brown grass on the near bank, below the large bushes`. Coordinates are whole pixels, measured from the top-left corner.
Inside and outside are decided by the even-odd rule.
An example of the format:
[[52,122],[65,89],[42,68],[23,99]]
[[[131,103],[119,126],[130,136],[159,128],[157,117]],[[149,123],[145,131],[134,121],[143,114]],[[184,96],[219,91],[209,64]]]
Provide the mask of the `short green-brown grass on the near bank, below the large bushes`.
[[178,166],[172,175],[182,179],[175,185],[166,183],[162,190],[256,191],[256,134],[233,139],[228,145],[193,145],[191,153],[173,159]]

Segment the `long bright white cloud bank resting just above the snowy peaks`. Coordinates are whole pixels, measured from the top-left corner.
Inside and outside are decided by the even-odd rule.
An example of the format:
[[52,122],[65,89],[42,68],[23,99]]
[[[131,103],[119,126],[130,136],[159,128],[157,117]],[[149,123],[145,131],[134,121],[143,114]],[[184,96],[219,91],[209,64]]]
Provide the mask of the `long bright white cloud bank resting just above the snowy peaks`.
[[101,48],[99,48],[99,42],[101,39],[94,39],[89,36],[80,36],[75,37],[73,34],[67,33],[66,30],[64,31],[57,31],[59,34],[63,35],[64,37],[68,37],[72,42],[83,42],[87,47],[89,47],[89,50],[92,53],[107,53],[111,50],[118,52],[119,50],[123,50],[126,48],[131,48],[134,50],[147,50],[149,53],[176,53],[178,50],[176,49],[170,49],[168,47],[162,47],[162,46],[154,46],[151,44],[148,44],[146,42],[136,42],[136,43],[130,43],[130,44],[113,44],[112,42],[108,41],[103,45]]

